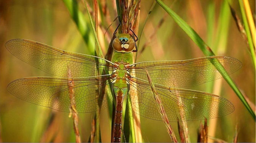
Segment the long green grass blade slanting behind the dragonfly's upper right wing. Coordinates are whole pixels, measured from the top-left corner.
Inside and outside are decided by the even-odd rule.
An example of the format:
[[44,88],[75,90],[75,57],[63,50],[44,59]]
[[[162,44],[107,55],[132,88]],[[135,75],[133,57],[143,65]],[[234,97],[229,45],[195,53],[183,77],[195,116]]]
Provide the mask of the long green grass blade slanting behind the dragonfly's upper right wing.
[[[201,49],[201,51],[206,56],[214,56],[214,53],[210,49],[210,47],[203,41],[202,38],[194,31],[193,28],[191,28],[184,20],[182,20],[174,11],[172,11],[168,6],[166,6],[163,1],[156,0],[157,3],[164,8],[164,10],[174,19],[174,21],[180,26],[181,29],[186,32],[186,34],[198,45],[198,47]],[[243,94],[241,91],[237,88],[234,81],[229,77],[226,76],[224,79],[227,81],[229,86],[233,89],[233,91],[236,93],[236,95],[239,97],[239,99],[242,101],[246,109],[250,112],[253,119],[256,119],[255,113],[253,112],[252,108],[249,106],[248,102],[245,100]]]

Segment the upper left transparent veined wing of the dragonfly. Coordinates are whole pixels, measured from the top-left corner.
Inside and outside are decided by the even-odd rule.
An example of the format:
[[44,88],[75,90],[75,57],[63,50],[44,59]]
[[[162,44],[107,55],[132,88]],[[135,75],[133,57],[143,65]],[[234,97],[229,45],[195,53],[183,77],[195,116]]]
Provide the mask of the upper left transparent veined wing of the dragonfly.
[[[6,48],[20,60],[59,77],[68,77],[71,69],[72,77],[95,76],[96,67],[100,73],[113,63],[96,56],[73,53],[26,39],[13,39],[6,43]],[[95,60],[98,60],[97,64]],[[109,66],[107,66],[107,64]]]

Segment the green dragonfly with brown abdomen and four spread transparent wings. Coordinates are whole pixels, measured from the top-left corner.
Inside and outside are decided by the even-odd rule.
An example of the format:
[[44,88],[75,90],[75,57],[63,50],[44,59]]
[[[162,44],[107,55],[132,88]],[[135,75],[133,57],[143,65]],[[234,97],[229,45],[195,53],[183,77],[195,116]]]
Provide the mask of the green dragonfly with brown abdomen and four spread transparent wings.
[[[121,142],[125,97],[129,98],[126,100],[133,112],[145,118],[162,120],[145,70],[150,74],[171,122],[217,118],[234,111],[233,104],[223,97],[182,87],[228,76],[240,69],[242,63],[239,60],[209,56],[132,63],[132,51],[137,50],[135,45],[131,35],[119,34],[112,43],[114,53],[112,61],[109,61],[27,39],[12,39],[5,45],[10,53],[56,77],[14,80],[7,90],[24,101],[63,112],[96,112],[115,102],[113,142]],[[109,71],[106,74],[96,74],[106,70]],[[105,96],[99,96],[102,91]],[[114,96],[107,96],[112,93]]]

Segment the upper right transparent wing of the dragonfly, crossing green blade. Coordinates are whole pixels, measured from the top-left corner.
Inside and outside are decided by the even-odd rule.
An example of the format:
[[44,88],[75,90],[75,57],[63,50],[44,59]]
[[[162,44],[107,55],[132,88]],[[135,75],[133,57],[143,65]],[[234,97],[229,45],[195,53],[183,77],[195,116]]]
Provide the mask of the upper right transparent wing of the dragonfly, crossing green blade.
[[153,83],[168,87],[188,87],[220,79],[239,70],[241,66],[242,63],[233,57],[210,56],[190,60],[140,62],[131,64],[129,72],[136,73],[136,77],[142,80],[148,80],[146,69]]

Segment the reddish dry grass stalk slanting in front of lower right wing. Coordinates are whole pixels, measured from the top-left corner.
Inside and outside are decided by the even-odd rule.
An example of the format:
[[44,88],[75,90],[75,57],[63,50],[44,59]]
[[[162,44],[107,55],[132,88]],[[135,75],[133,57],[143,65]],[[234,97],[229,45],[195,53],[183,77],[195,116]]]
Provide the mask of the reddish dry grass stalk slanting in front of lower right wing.
[[151,92],[154,95],[154,98],[155,98],[155,101],[156,101],[155,103],[157,105],[157,110],[159,111],[159,113],[160,113],[160,115],[161,115],[161,117],[164,121],[165,127],[166,127],[167,132],[168,132],[169,136],[171,137],[172,141],[177,143],[178,141],[177,141],[177,139],[174,135],[173,129],[171,128],[168,116],[165,113],[164,107],[162,105],[161,99],[158,96],[157,90],[155,89],[154,83],[152,82],[150,74],[148,73],[147,70],[146,70],[146,73],[147,73],[148,81],[149,81],[149,84],[150,84],[150,87],[151,87]]

